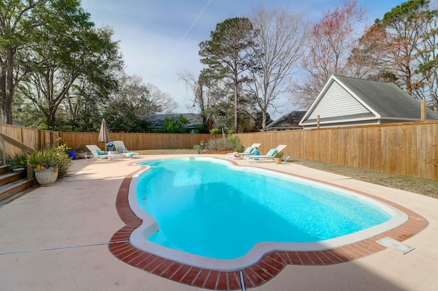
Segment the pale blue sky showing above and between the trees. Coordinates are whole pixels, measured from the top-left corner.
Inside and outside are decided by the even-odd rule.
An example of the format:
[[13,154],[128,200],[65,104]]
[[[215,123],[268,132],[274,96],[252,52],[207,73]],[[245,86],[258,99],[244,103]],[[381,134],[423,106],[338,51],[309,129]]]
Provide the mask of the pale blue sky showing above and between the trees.
[[[359,0],[370,23],[382,18],[402,0]],[[96,27],[109,26],[129,75],[142,77],[168,93],[179,105],[174,113],[188,113],[193,95],[179,80],[179,72],[198,76],[203,69],[198,56],[200,42],[227,18],[245,17],[259,5],[303,14],[313,23],[322,13],[340,6],[340,0],[82,0]],[[284,100],[279,100],[284,103]],[[270,112],[274,120],[296,108],[285,106]]]

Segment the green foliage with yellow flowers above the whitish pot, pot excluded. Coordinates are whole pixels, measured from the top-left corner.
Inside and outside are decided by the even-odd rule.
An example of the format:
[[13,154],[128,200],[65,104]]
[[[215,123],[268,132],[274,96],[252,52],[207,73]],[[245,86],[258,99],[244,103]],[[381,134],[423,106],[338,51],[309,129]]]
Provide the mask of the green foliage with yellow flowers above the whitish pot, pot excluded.
[[53,167],[58,168],[58,178],[66,176],[68,168],[71,166],[71,160],[64,148],[53,147],[40,152],[34,152],[29,158],[29,163],[36,169],[37,166],[46,169]]

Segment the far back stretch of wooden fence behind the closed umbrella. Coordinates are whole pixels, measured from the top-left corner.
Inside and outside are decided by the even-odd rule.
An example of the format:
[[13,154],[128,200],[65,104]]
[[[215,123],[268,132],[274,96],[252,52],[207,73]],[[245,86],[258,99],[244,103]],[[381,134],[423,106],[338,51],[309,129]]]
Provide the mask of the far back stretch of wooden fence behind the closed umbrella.
[[[59,133],[60,137],[71,148],[82,145],[96,145],[101,149],[105,148],[99,143],[99,133]],[[128,150],[160,150],[193,148],[201,140],[207,141],[211,138],[209,134],[190,133],[110,133],[111,141],[123,141]]]

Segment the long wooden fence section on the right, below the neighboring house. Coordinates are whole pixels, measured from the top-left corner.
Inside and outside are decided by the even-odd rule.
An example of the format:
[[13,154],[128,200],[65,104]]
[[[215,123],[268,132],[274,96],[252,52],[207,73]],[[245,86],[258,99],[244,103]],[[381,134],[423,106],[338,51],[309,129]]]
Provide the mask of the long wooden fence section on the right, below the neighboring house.
[[242,133],[261,152],[286,144],[285,154],[392,174],[438,179],[438,122]]

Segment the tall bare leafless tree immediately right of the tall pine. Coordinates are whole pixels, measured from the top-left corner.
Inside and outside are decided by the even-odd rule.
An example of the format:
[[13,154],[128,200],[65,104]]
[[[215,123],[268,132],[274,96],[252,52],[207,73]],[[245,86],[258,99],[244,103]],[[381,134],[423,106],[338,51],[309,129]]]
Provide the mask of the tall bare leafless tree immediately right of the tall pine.
[[266,10],[259,7],[250,17],[255,36],[253,64],[250,70],[250,93],[261,113],[261,130],[266,131],[268,108],[286,92],[287,78],[304,53],[307,26],[302,16],[285,10]]

